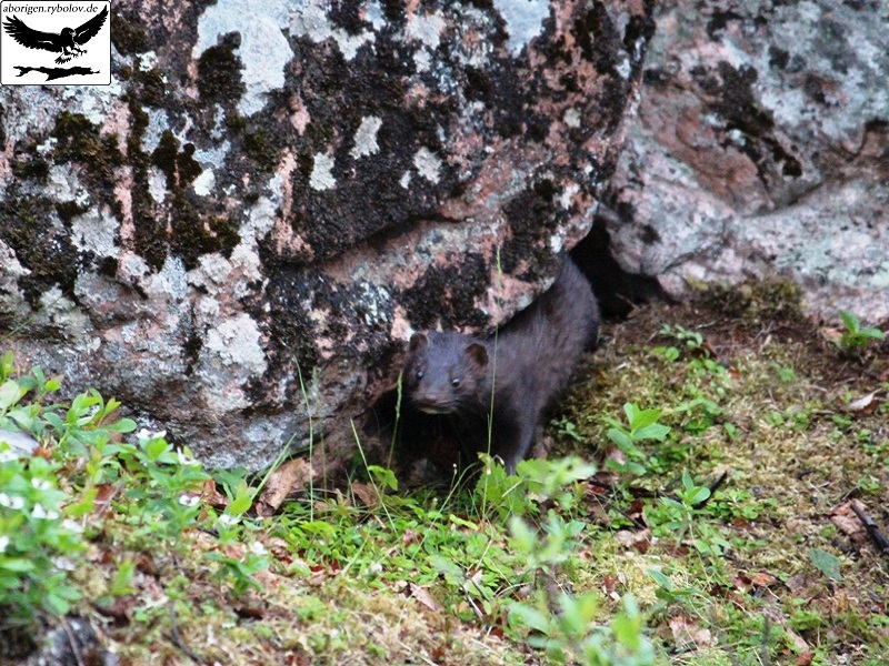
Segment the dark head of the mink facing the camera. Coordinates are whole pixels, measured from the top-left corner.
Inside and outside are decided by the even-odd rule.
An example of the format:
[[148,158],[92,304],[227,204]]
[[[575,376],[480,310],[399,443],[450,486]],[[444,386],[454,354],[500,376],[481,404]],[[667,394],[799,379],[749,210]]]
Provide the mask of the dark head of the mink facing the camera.
[[427,414],[453,414],[479,402],[488,350],[459,333],[416,333],[403,382],[408,400]]

